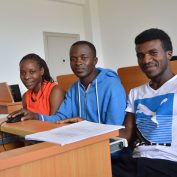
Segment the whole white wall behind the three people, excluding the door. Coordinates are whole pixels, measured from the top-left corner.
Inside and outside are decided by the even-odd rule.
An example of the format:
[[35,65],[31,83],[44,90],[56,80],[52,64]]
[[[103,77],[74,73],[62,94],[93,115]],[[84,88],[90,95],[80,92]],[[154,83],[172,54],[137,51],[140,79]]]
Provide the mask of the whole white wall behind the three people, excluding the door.
[[0,82],[20,84],[19,61],[44,56],[43,32],[76,33],[97,48],[98,66],[136,65],[134,38],[164,29],[177,49],[176,0],[0,0]]

